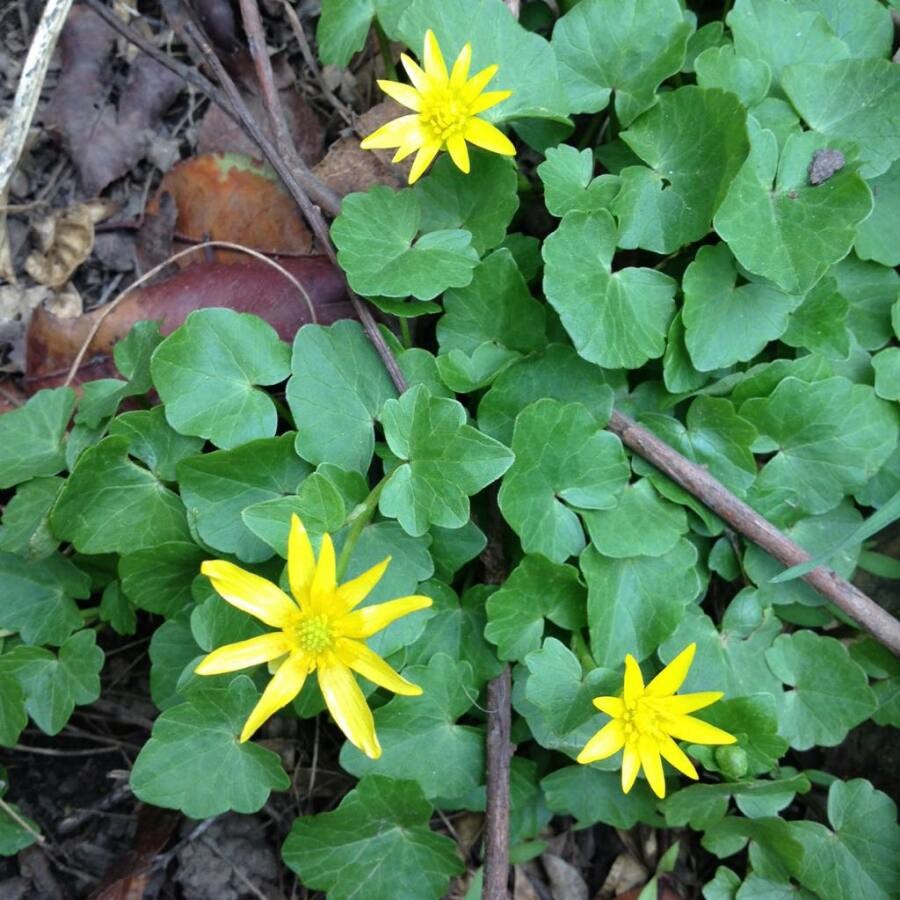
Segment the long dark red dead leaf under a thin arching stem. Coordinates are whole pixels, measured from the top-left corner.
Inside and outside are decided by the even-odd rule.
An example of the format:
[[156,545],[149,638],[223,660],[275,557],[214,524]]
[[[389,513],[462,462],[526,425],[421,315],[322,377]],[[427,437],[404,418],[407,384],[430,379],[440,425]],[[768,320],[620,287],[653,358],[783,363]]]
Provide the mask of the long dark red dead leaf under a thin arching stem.
[[[246,257],[245,257],[246,259]],[[304,286],[323,325],[353,315],[344,279],[324,256],[283,259],[281,265]],[[297,289],[271,266],[258,260],[223,265],[202,263],[150,287],[138,288],[109,313],[88,346],[76,380],[114,374],[112,347],[135,322],[161,321],[169,334],[195,309],[224,306],[261,316],[284,340],[310,322],[309,309]],[[29,393],[62,384],[105,307],[77,319],[59,319],[35,310],[26,341],[25,386]]]

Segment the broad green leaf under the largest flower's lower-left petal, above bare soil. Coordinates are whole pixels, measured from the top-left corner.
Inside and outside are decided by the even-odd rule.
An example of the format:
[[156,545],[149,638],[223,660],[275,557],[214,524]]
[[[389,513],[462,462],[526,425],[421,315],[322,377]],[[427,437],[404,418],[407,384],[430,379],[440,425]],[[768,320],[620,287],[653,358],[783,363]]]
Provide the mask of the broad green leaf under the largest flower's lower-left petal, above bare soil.
[[278,756],[238,742],[259,699],[244,675],[227,687],[203,686],[154,723],[131,770],[131,789],[145,803],[180,809],[192,819],[234,810],[254,813],[290,779]]

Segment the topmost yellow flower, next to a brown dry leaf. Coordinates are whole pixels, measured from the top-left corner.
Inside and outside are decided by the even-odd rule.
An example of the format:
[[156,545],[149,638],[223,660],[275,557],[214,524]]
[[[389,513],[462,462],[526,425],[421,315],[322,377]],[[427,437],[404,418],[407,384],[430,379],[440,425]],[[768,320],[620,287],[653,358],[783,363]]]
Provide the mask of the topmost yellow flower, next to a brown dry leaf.
[[478,113],[505,100],[512,91],[487,91],[487,83],[499,66],[488,66],[469,78],[472,45],[466,44],[448,74],[434,32],[425,32],[425,52],[420,68],[405,53],[400,56],[412,85],[399,81],[379,81],[378,86],[414,115],[400,116],[370,134],[360,145],[364,150],[399,148],[394,162],[416,153],[409,183],[418,181],[440,150],[446,149],[457,168],[469,171],[466,141],[494,153],[512,156],[516,152],[509,138]]

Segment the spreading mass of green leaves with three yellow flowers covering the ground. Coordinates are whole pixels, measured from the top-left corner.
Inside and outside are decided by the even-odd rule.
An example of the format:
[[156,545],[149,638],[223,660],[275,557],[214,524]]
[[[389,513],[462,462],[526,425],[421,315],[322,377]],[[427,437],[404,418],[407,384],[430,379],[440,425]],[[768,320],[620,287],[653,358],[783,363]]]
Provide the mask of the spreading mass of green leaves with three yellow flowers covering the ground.
[[126,792],[282,797],[309,896],[895,896],[892,8],[322,0],[315,36],[372,64],[340,140],[380,174],[257,155],[346,308],[285,262],[304,319],[253,281],[137,315],[0,416],[0,853],[57,825],[23,732],[144,635]]

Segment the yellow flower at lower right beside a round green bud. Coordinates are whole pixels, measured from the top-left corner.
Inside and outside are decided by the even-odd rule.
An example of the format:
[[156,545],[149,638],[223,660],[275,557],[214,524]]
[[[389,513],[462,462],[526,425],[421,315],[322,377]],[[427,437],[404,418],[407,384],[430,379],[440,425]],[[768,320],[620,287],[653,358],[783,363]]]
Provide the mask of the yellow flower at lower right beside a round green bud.
[[640,667],[629,653],[625,657],[622,696],[594,699],[594,706],[610,716],[612,721],[584,745],[578,754],[578,762],[597,762],[624,747],[622,790],[626,794],[631,790],[638,771],[643,767],[653,793],[657,797],[665,797],[662,759],[688,778],[696,780],[698,777],[693,763],[672,738],[693,744],[735,743],[737,739],[734,735],[687,715],[720,700],[720,691],[675,694],[687,677],[696,650],[696,644],[686,647],[646,687]]

